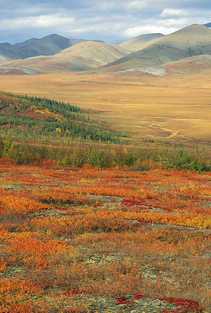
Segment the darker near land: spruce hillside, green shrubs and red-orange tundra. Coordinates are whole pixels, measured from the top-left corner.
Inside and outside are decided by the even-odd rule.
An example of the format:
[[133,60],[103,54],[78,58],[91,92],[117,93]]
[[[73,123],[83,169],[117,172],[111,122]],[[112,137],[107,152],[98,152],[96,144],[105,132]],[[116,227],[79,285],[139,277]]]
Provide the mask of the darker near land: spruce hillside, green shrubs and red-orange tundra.
[[126,145],[89,114],[1,94],[0,313],[210,311],[210,151]]

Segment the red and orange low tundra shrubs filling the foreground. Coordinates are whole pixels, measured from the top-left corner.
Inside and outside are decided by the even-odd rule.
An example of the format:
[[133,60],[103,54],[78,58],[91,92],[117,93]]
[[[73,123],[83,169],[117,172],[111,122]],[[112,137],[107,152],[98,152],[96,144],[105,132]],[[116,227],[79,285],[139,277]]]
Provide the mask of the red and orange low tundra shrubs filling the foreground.
[[0,312],[95,312],[81,294],[210,309],[210,172],[0,161]]

